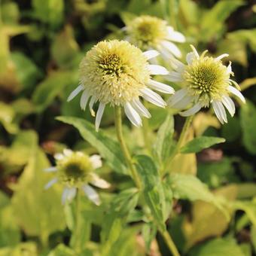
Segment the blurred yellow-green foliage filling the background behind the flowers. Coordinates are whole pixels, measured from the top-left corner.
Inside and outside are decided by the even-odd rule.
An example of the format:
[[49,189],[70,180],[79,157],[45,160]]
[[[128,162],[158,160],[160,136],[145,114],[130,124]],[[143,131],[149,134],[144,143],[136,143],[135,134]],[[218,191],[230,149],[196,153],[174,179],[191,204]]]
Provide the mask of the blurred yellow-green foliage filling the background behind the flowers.
[[[91,154],[99,151],[101,145],[92,145],[90,139],[89,143],[84,142],[72,126],[55,117],[68,115],[92,120],[89,111],[81,111],[78,99],[66,102],[78,84],[79,62],[97,41],[123,38],[120,29],[140,14],[166,19],[182,32],[187,38],[186,44],[179,45],[184,56],[189,44],[200,51],[208,49],[213,56],[229,53],[235,79],[247,99],[247,104],[224,126],[219,125],[211,111],[197,114],[190,137],[221,136],[226,143],[197,156],[182,154],[176,157],[171,170],[197,175],[214,194],[233,202],[231,218],[227,219],[209,200],[202,200],[204,185],[200,181],[184,179],[175,190],[177,200],[171,205],[169,232],[183,254],[255,254],[256,2],[1,0],[1,256],[75,255],[67,246],[72,239],[73,206],[62,208],[59,187],[43,189],[49,177],[41,170],[50,166],[53,154],[62,148]],[[170,111],[149,108],[153,144],[160,124],[171,120],[166,119]],[[102,127],[114,141],[111,108],[106,113]],[[180,130],[181,123],[182,118],[175,117],[175,130]],[[142,152],[142,132],[130,126],[125,132],[133,153]],[[89,137],[84,132],[84,139]],[[123,174],[122,166],[108,166],[100,172],[113,186],[101,194],[102,206],[83,201],[82,255],[145,255],[146,251],[151,255],[168,255],[160,237],[157,236],[158,243],[154,239],[157,231],[151,220],[140,222],[145,216],[140,209],[134,209],[138,200],[134,191],[126,190],[115,196],[114,192],[129,187],[130,180]],[[177,186],[178,182],[172,180],[170,184]]]

